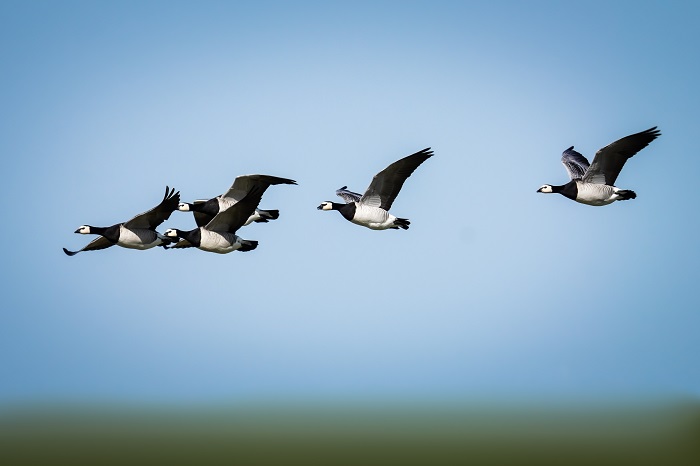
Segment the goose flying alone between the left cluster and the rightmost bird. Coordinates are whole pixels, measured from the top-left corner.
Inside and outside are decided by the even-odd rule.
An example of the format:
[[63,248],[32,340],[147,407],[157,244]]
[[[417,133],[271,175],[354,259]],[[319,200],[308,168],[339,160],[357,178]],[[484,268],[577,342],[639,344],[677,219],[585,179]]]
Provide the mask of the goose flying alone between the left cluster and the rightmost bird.
[[432,156],[433,151],[428,147],[404,157],[377,173],[364,194],[348,191],[347,186],[343,186],[335,193],[345,200],[345,204],[326,201],[318,209],[337,210],[346,220],[372,230],[408,230],[411,222],[395,217],[389,213],[389,209],[406,179]]

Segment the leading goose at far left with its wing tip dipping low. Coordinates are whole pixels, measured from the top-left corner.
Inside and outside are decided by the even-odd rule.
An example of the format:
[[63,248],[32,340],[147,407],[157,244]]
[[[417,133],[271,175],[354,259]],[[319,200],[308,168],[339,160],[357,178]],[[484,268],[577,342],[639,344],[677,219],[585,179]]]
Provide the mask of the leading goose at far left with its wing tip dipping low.
[[69,256],[74,256],[81,251],[96,251],[110,246],[121,246],[129,249],[150,249],[155,246],[167,248],[168,244],[174,241],[156,231],[158,225],[166,221],[170,214],[177,209],[180,202],[180,192],[175,192],[175,188],[165,187],[165,196],[160,204],[151,210],[137,215],[123,223],[117,223],[110,227],[93,227],[91,225],[81,225],[75,233],[97,234],[98,238],[92,240],[83,249],[69,251],[63,248],[63,252]]

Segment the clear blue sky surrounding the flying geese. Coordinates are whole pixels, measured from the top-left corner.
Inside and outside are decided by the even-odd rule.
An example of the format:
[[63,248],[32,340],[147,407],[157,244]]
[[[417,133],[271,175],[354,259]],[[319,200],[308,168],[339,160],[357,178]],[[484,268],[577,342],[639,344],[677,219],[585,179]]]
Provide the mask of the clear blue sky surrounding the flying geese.
[[[3,2],[0,402],[699,395],[699,13]],[[535,192],[657,125],[636,200]],[[316,210],[425,147],[410,230]],[[253,252],[61,251],[249,173]]]

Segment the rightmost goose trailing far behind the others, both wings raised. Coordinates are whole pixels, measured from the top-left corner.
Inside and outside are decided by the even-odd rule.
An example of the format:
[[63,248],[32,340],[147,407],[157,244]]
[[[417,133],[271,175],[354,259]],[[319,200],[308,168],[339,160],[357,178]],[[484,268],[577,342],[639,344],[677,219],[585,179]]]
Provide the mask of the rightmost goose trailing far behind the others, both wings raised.
[[629,189],[620,189],[615,180],[622,167],[644,149],[661,132],[656,126],[646,131],[619,139],[596,152],[593,163],[574,150],[574,146],[564,151],[561,162],[569,173],[570,181],[561,186],[543,185],[538,193],[559,193],[581,204],[601,206],[615,201],[635,199],[637,194]]

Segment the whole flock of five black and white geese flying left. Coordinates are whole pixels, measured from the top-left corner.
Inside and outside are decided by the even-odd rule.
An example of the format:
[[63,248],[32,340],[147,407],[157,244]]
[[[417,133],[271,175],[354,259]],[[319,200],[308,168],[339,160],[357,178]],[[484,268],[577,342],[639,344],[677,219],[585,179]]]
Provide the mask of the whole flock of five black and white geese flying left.
[[[653,127],[626,136],[598,150],[592,163],[571,146],[561,158],[569,174],[569,182],[563,185],[545,184],[537,192],[559,193],[593,206],[634,199],[636,193],[616,187],[615,180],[627,159],[660,135],[661,132]],[[426,148],[404,157],[377,173],[364,194],[349,191],[347,186],[343,186],[336,194],[345,203],[325,201],[318,209],[337,210],[346,220],[372,230],[407,230],[410,225],[408,219],[395,217],[389,210],[406,179],[432,156],[433,151]],[[267,188],[280,184],[295,185],[296,181],[269,175],[239,176],[226,193],[192,203],[180,202],[180,193],[166,187],[160,204],[126,222],[109,227],[80,226],[75,233],[99,236],[78,251],[66,248],[63,251],[73,256],[81,251],[95,251],[114,245],[130,249],[195,247],[218,254],[252,251],[258,242],[245,240],[236,232],[252,222],[265,223],[279,217],[279,211],[260,210],[258,204]],[[170,228],[163,234],[158,233],[156,228],[168,220],[175,210],[192,212],[197,227],[188,231]]]

